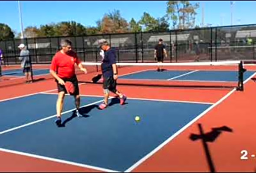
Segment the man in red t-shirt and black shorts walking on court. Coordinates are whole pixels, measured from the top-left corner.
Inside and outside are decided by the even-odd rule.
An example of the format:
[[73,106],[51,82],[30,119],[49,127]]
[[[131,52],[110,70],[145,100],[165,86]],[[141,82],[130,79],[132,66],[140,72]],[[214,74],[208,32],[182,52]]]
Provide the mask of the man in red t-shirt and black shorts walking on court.
[[61,41],[62,49],[58,51],[53,57],[52,64],[50,67],[50,74],[55,78],[58,87],[58,99],[56,103],[57,109],[57,119],[55,121],[56,125],[61,125],[61,112],[63,108],[63,101],[65,94],[67,93],[65,88],[65,82],[70,81],[75,87],[75,92],[72,94],[75,97],[76,115],[79,114],[80,107],[80,96],[79,96],[79,86],[78,80],[75,75],[75,64],[78,65],[80,70],[87,73],[87,70],[82,66],[77,54],[72,51],[72,42],[65,39]]

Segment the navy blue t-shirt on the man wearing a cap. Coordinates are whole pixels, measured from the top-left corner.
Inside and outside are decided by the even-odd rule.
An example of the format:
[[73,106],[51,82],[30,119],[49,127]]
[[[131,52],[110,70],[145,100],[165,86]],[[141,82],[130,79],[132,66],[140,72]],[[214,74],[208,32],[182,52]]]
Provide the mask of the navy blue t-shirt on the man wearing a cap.
[[109,48],[107,51],[105,51],[101,64],[102,75],[104,78],[112,77],[114,75],[112,64],[116,63],[115,59],[115,49]]

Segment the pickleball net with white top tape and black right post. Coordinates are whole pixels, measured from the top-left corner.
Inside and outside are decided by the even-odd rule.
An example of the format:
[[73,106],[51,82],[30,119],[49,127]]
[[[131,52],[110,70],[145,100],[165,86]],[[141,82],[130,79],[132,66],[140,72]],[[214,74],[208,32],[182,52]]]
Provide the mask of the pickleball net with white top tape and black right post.
[[[84,62],[85,67],[95,68],[92,77],[101,74],[101,63]],[[162,63],[117,63],[118,85],[196,87],[196,88],[236,88],[243,90],[243,83],[255,71],[246,70],[242,61]],[[80,82],[93,82],[92,78]]]

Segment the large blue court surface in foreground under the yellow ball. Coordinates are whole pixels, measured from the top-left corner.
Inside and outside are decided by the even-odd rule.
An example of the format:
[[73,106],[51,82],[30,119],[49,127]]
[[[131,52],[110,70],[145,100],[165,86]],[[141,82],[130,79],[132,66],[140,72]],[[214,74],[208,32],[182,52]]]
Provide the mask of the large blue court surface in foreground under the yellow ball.
[[42,93],[0,102],[0,147],[123,172],[212,106],[129,98],[121,106],[113,98],[99,110],[101,96],[81,96],[84,117],[78,118],[73,97],[66,96],[67,112],[57,127],[56,99],[56,94]]

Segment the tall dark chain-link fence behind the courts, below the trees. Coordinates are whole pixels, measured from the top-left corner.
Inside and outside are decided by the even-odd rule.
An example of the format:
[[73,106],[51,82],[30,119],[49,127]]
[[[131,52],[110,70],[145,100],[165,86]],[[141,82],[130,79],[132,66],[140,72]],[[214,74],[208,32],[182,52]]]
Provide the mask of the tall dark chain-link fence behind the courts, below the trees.
[[162,38],[167,51],[165,62],[226,61],[256,59],[256,24],[221,26],[169,32],[139,32],[72,37],[24,38],[0,42],[5,64],[19,64],[18,45],[24,43],[34,64],[49,64],[63,38],[72,41],[82,61],[100,61],[98,39],[115,48],[118,62],[153,62],[154,47]]

